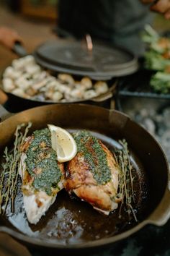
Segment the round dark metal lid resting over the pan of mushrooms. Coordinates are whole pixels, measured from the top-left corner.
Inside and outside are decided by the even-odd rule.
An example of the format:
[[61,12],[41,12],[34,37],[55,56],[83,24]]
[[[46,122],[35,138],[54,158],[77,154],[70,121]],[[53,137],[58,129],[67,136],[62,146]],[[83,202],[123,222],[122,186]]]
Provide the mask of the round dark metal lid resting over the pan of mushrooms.
[[133,54],[102,43],[94,43],[93,50],[89,51],[86,44],[79,41],[50,41],[37,48],[35,59],[53,71],[101,79],[132,74],[138,69],[138,60]]

